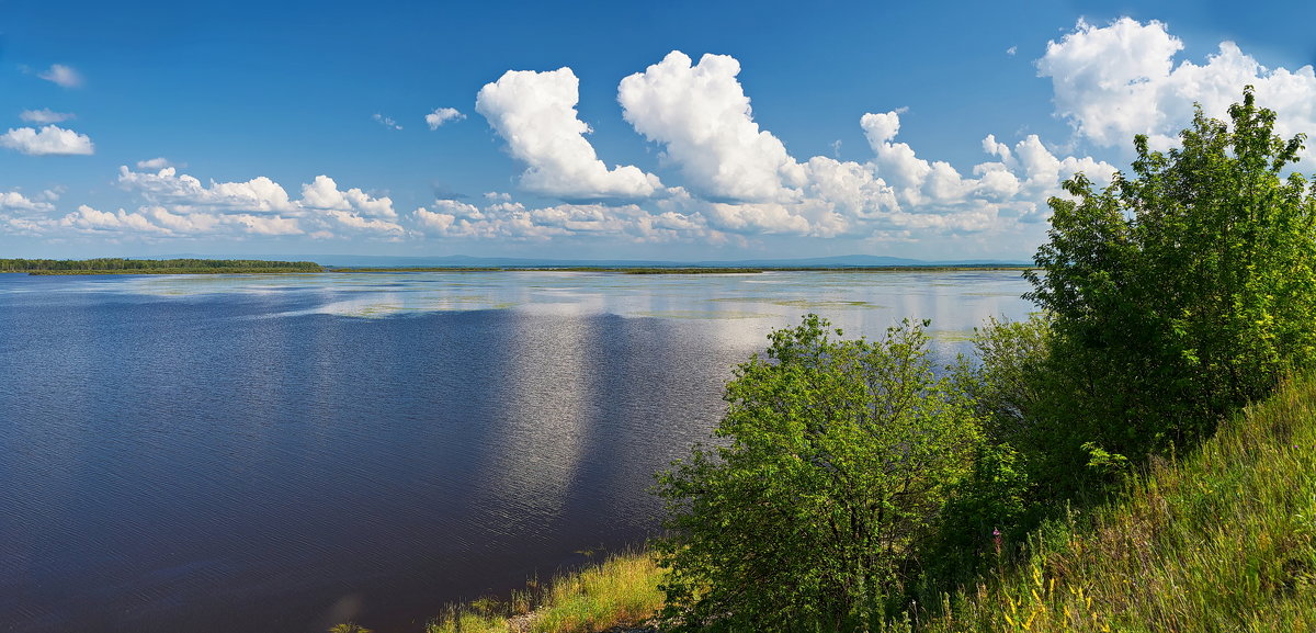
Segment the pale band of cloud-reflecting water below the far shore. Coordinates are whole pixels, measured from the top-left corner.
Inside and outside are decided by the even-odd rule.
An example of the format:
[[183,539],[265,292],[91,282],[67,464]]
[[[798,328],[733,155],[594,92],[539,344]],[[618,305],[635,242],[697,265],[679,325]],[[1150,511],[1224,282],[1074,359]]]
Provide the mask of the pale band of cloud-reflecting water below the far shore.
[[[962,340],[987,317],[1023,318],[1028,290],[1016,271],[763,272],[624,275],[574,271],[372,272],[322,275],[171,275],[120,278],[118,292],[162,296],[299,293],[307,307],[276,316],[383,318],[449,311],[515,309],[530,315],[732,321],[754,333],[826,316],[853,336],[880,336],[904,317]],[[88,280],[78,290],[111,290]]]

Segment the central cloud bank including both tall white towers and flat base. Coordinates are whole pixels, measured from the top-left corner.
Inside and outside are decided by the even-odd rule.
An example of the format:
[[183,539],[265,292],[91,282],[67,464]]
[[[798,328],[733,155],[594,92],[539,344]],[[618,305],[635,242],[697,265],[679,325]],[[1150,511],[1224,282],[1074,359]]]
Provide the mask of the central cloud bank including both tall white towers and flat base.
[[[528,165],[522,188],[567,204],[491,200],[482,208],[438,200],[412,220],[424,234],[455,238],[905,240],[1011,230],[1045,217],[1046,197],[1075,171],[1098,182],[1115,171],[1092,158],[1057,157],[1036,136],[1015,147],[990,136],[982,146],[991,159],[962,172],[899,142],[899,109],[859,118],[869,161],[800,161],[754,120],[740,71],[729,55],[696,63],[671,51],[619,84],[624,120],[662,147],[661,166],[679,183],[666,188],[638,167],[609,171],[597,159],[584,138],[588,126],[576,117],[579,82],[570,68],[508,71],[480,91],[476,111]],[[607,200],[616,197],[629,201]]]

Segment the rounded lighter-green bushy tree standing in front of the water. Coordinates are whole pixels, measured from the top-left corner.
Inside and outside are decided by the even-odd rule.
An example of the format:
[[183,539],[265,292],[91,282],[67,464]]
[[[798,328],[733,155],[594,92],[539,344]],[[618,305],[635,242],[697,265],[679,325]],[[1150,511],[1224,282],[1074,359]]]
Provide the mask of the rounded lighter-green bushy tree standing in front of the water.
[[924,326],[841,340],[809,315],[737,368],[719,446],[659,474],[669,617],[755,632],[884,617],[980,442]]

